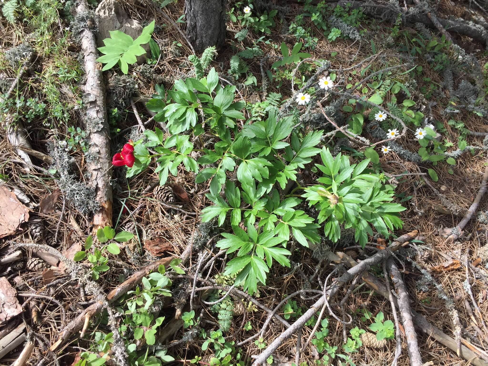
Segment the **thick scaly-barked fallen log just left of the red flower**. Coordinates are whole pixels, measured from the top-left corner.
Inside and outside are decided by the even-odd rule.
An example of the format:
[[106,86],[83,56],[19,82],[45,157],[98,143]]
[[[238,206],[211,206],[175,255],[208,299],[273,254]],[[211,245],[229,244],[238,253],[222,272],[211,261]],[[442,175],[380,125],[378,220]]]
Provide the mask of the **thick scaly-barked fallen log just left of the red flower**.
[[[76,8],[77,14],[89,11],[86,0],[81,0]],[[87,22],[87,29],[80,32],[81,49],[83,52],[86,81],[83,85],[83,102],[86,105],[85,124],[89,132],[90,149],[87,159],[89,180],[95,188],[95,199],[100,209],[94,212],[94,230],[103,226],[112,226],[112,186],[110,177],[112,160],[110,158],[110,138],[105,107],[105,85],[103,84],[102,68],[97,62],[97,41]]]

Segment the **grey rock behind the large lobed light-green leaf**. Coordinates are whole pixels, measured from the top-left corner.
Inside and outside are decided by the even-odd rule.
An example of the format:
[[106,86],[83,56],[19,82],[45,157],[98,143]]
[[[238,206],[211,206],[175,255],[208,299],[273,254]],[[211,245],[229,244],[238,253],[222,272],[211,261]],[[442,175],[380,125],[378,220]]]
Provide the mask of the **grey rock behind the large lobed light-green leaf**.
[[[122,5],[115,0],[103,0],[95,10],[95,13],[100,17],[97,22],[98,34],[97,43],[99,47],[104,46],[103,40],[110,38],[110,31],[120,30],[128,34],[135,40],[142,33],[142,25],[139,21],[129,18]],[[146,51],[145,55],[137,57],[137,63],[144,63],[146,57],[151,56],[149,43],[141,44]]]

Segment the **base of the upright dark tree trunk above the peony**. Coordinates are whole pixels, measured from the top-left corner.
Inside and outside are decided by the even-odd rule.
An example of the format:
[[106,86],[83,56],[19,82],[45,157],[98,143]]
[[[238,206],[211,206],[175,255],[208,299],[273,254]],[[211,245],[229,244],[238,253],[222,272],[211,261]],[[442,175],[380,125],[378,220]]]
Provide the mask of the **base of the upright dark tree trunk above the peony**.
[[220,48],[225,40],[224,0],[185,0],[186,37],[202,53],[205,48]]

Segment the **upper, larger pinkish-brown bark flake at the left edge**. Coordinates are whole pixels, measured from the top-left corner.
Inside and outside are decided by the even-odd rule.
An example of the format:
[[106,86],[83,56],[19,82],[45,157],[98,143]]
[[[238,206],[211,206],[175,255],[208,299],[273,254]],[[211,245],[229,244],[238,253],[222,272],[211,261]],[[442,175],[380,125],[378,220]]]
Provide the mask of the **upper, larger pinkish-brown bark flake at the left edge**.
[[21,203],[14,192],[0,187],[0,238],[15,233],[20,224],[29,220],[27,207]]

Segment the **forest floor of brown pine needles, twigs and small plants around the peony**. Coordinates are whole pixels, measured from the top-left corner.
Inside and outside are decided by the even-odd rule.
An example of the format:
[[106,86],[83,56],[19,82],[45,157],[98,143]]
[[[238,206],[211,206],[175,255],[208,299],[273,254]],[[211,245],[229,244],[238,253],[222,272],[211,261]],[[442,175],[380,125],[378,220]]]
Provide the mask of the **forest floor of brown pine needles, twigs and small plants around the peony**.
[[[0,283],[0,292],[13,286],[14,299],[17,299],[12,305],[17,310],[15,316],[7,316],[8,322],[0,325],[0,365],[12,365],[26,349],[22,346],[25,342],[34,346],[25,360],[28,365],[78,366],[85,359],[86,365],[91,366],[118,365],[121,351],[117,347],[121,342],[124,346],[137,344],[137,349],[128,347],[124,351],[129,354],[128,364],[131,365],[161,362],[251,365],[251,356],[261,354],[287,328],[273,318],[260,335],[269,309],[279,305],[277,314],[292,324],[317,301],[316,297],[310,298],[310,294],[298,291],[321,290],[323,281],[326,286],[327,281],[333,281],[347,269],[344,264],[331,263],[327,253],[346,252],[360,261],[384,248],[384,235],[377,234],[376,230],[375,235],[368,236],[368,246],[362,249],[357,247],[353,229],[343,228],[341,238],[334,242],[319,228],[321,238],[315,250],[290,239],[287,244],[291,253],[290,267],[275,263],[269,268],[265,285],[258,284],[252,296],[245,292],[235,296],[232,293],[232,297],[217,303],[227,291],[232,292],[229,286],[235,279],[235,275],[224,275],[225,264],[232,255],[228,257],[213,245],[222,239],[220,234],[230,225],[219,224],[216,220],[202,223],[203,208],[212,204],[205,196],[210,187],[208,182],[195,183],[195,172],[186,164],[178,165],[177,174],[169,174],[167,178],[165,186],[168,188],[155,194],[153,188],[159,185],[161,177],[158,165],[152,162],[133,176],[126,176],[125,167],[114,167],[112,172],[112,227],[116,233],[132,232],[135,236],[128,241],[122,238],[119,244],[114,244],[111,239],[115,233],[107,231],[106,240],[99,235],[90,249],[86,239],[92,234],[95,206],[91,203],[91,177],[85,173],[93,157],[87,153],[90,142],[83,120],[86,100],[83,100],[81,88],[84,71],[76,34],[86,22],[80,24],[80,18],[72,15],[70,8],[74,2],[70,0],[10,1],[16,2],[14,12],[9,15],[11,19],[3,17],[0,24],[2,96],[13,87],[9,98],[0,103],[0,119],[5,127],[0,141],[0,183],[1,187],[14,192],[21,203],[9,205],[3,198],[0,224],[6,227],[8,217],[23,212],[25,207],[30,219],[21,225],[17,223],[13,230],[9,227],[0,232],[1,277],[10,284]],[[90,5],[96,6],[96,1],[93,2],[89,2]],[[390,5],[393,2],[390,1]],[[400,1],[401,8],[403,3]],[[413,9],[416,3],[407,1],[405,6]],[[152,54],[141,65],[130,65],[127,75],[117,66],[103,73],[112,154],[120,151],[129,139],[145,139],[146,142],[144,129],[162,128],[161,123],[155,122],[154,113],[145,108],[145,101],[154,100],[155,95],[161,93],[161,87],[171,90],[175,80],[195,77],[194,65],[188,60],[193,52],[183,37],[182,0],[162,1],[162,4],[131,0],[123,2],[122,6],[142,26],[155,20],[153,39],[160,47],[160,56]],[[325,130],[324,134],[334,131],[321,140],[319,148],[329,147],[334,156],[342,152],[351,164],[371,159],[371,171],[380,174],[384,182],[394,188],[394,202],[406,207],[400,212],[403,227],[395,230],[390,239],[393,241],[393,238],[418,231],[410,245],[398,252],[409,305],[440,332],[457,342],[462,339],[462,344],[478,357],[475,363],[466,355],[459,356],[456,350],[419,329],[416,334],[422,363],[488,365],[488,329],[484,321],[488,321],[488,195],[481,197],[477,212],[464,226],[462,235],[453,241],[447,240],[450,234],[456,233],[452,228],[476,200],[483,177],[487,175],[486,45],[454,31],[450,32],[452,42],[447,41],[439,29],[426,28],[420,22],[402,22],[391,9],[390,12],[385,9],[383,13],[376,12],[375,17],[374,12],[367,9],[352,9],[346,5],[336,8],[336,4],[325,2],[304,5],[294,1],[255,1],[251,16],[259,17],[277,10],[270,24],[266,24],[264,18],[258,20],[262,26],[269,27],[269,34],[266,34],[264,28],[262,31],[255,26],[256,21],[244,23],[245,6],[247,3],[229,1],[227,39],[204,74],[213,67],[225,79],[223,85],[230,83],[237,87],[235,102],[245,103],[245,119],[241,122],[265,120],[269,111],[281,113],[285,106],[285,111],[293,118],[294,132],[300,138],[310,131]],[[468,0],[455,3],[441,0],[435,14],[445,19],[456,17],[475,24],[488,24],[483,18],[487,11]],[[483,28],[482,25],[477,27]],[[486,35],[488,30],[483,29]],[[299,51],[309,56],[297,56],[294,61],[273,67],[274,61],[285,56],[283,52],[292,52],[299,42],[303,43]],[[296,54],[292,52],[292,56]],[[368,143],[355,139],[355,134],[348,134],[347,138],[336,130],[325,120],[325,113],[321,113],[317,103],[296,105],[295,92],[323,66],[322,61],[330,61],[327,75],[336,88],[341,87],[335,94],[324,96],[325,113]],[[16,79],[20,73],[21,78]],[[354,88],[356,83],[360,86]],[[305,91],[313,94],[311,87],[307,86]],[[348,89],[354,89],[351,96],[346,95]],[[290,98],[293,106],[286,109]],[[361,105],[362,98],[381,104],[397,119],[376,122],[374,114],[378,109]],[[362,115],[360,127],[353,117],[358,112]],[[430,123],[427,133],[431,135],[424,146],[415,138],[415,130],[425,128],[426,122]],[[7,125],[10,124],[25,127],[33,150],[28,162],[8,139]],[[384,134],[378,131],[393,128],[405,134],[395,141],[375,145],[373,149],[369,147],[384,140]],[[196,160],[203,155],[203,149],[216,142],[215,135],[202,136],[192,140],[200,149],[192,152]],[[392,151],[383,154],[384,143]],[[314,163],[321,163],[319,156],[298,169],[301,186],[311,185],[322,176]],[[227,178],[231,179],[232,172],[228,173]],[[305,202],[299,208],[313,218],[319,211]],[[29,246],[29,243],[35,244]],[[104,243],[111,243],[112,250],[103,251]],[[46,250],[42,245],[50,245],[63,253],[68,264],[62,265],[57,254],[47,255],[41,250]],[[113,245],[117,249],[113,249]],[[353,248],[349,248],[351,246]],[[100,249],[98,254],[93,251],[95,248]],[[17,250],[21,250],[21,255],[15,257],[16,261],[9,260]],[[75,254],[80,252],[86,252],[86,258],[84,254],[76,258]],[[181,264],[176,261],[169,266],[166,260],[185,258],[185,255],[187,261]],[[38,257],[42,261],[35,260]],[[71,262],[73,259],[79,267]],[[88,306],[102,301],[100,291],[108,294],[124,280],[133,278],[137,270],[158,260],[166,270],[173,270],[166,273],[168,277],[161,273],[151,279],[170,278],[172,285],[166,282],[161,289],[149,282],[146,287],[142,281],[143,286],[135,293],[118,295],[117,301],[107,306],[104,303],[104,309],[111,315],[103,311],[102,316],[95,316],[90,325],[83,328],[83,335],[80,336],[81,329],[77,329],[53,348],[70,322],[84,314]],[[174,269],[178,265],[180,267]],[[156,265],[151,269],[157,268]],[[375,263],[366,269],[385,281],[384,268]],[[83,272],[86,270],[88,272]],[[333,270],[339,274],[334,275]],[[86,273],[92,277],[87,279]],[[331,273],[333,275],[328,278]],[[143,271],[141,277],[145,275]],[[208,287],[206,292],[204,286]],[[393,288],[393,284],[390,286]],[[199,288],[193,299],[195,287]],[[143,288],[155,296],[148,307],[151,306],[152,314],[156,315],[151,315],[147,324],[142,318],[123,315],[131,314],[132,310],[127,310],[135,309],[131,306],[147,301],[140,296]],[[348,288],[349,284],[342,286],[337,298],[344,298]],[[236,289],[242,290],[242,286],[237,285]],[[172,296],[164,293],[169,290]],[[387,322],[394,321],[390,301],[371,290],[359,277],[350,290],[352,293],[347,293],[345,304],[331,305],[338,319],[326,309],[322,319],[328,321],[314,329],[318,316],[315,314],[300,330],[302,344],[313,329],[319,332],[314,333],[301,352],[300,365],[390,365],[396,346],[393,330],[399,333],[401,341],[402,354],[397,365],[409,365],[408,329],[406,332],[402,324],[392,327],[391,322]],[[296,292],[280,305],[283,299]],[[134,299],[137,299],[135,303]],[[203,302],[205,299],[207,303]],[[2,305],[0,320],[5,319],[5,309]],[[147,332],[158,317],[164,320],[153,327],[156,343],[148,347],[141,342],[142,335],[136,337],[134,330],[144,329],[145,342],[151,344]],[[346,322],[349,318],[351,322]],[[24,338],[2,353],[11,342],[7,342],[6,336],[12,329],[18,329]],[[358,332],[376,333],[381,329],[386,336],[377,339],[386,339],[384,346],[374,348],[359,342]],[[267,359],[268,364],[295,363],[296,347],[297,335],[293,334]],[[97,354],[97,360],[103,361],[95,362],[89,358],[89,353]],[[110,360],[114,354],[116,356]],[[230,359],[225,358],[227,354]]]

